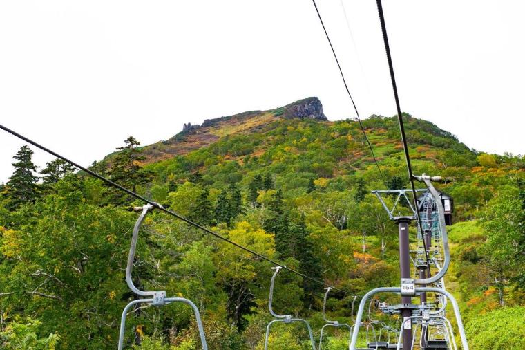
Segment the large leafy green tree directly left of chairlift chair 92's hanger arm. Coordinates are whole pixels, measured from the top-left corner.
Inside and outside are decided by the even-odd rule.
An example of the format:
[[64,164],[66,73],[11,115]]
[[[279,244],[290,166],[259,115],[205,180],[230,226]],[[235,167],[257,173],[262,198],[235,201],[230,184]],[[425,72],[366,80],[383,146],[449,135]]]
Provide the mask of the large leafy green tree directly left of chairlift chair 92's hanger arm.
[[[59,334],[64,349],[108,349],[117,341],[113,320],[132,297],[122,271],[136,216],[88,205],[65,182],[17,210],[15,225],[1,234],[2,292],[12,293],[11,317],[46,321],[39,336]],[[137,255],[143,252],[139,246]]]

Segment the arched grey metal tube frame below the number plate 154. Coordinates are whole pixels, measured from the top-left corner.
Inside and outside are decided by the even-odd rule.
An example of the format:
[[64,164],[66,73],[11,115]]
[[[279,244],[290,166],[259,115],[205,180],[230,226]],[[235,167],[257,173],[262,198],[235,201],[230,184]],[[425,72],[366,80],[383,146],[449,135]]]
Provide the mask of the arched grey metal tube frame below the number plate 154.
[[[383,287],[383,288],[375,288],[372,289],[372,291],[369,291],[363,296],[363,299],[361,299],[361,302],[359,303],[359,309],[357,311],[356,315],[356,325],[361,324],[361,318],[363,317],[363,311],[365,309],[365,304],[367,300],[377,293],[383,293],[383,292],[390,292],[390,293],[401,293],[401,287]],[[452,296],[452,294],[448,293],[447,291],[441,289],[441,288],[434,288],[434,287],[419,287],[416,288],[416,292],[432,292],[432,293],[439,293],[442,295],[445,295],[448,300],[450,300],[450,303],[452,304],[452,308],[454,308],[454,313],[456,316],[456,322],[457,327],[459,329],[459,335],[461,336],[461,345],[463,346],[464,350],[468,350],[468,343],[465,335],[465,329],[463,326],[463,321],[461,320],[461,315],[459,313],[459,306],[457,304],[457,301]],[[403,329],[403,326],[401,326],[401,329]],[[352,333],[352,342],[350,342],[350,350],[356,349],[356,343],[357,343],[357,336],[359,333],[359,326],[356,326],[354,328],[354,332]],[[401,338],[401,334],[399,335],[399,338]]]

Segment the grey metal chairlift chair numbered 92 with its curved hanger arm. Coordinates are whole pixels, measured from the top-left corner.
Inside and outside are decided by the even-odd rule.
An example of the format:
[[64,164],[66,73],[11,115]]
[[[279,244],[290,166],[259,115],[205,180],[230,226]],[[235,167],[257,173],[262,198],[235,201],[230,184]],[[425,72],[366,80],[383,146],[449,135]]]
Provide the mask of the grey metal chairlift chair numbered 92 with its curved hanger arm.
[[[162,206],[158,204],[160,208]],[[200,335],[200,342],[202,344],[202,349],[207,350],[208,345],[206,342],[206,336],[204,335],[204,327],[202,326],[202,320],[200,318],[199,309],[191,300],[185,299],[183,297],[166,297],[166,291],[141,291],[139,288],[135,287],[135,284],[133,284],[133,279],[131,277],[131,273],[133,271],[133,261],[135,261],[135,250],[137,248],[137,241],[138,241],[138,235],[140,230],[140,225],[142,225],[142,221],[144,221],[144,218],[146,217],[146,214],[150,210],[155,208],[151,204],[146,204],[143,207],[134,208],[135,210],[142,210],[142,213],[140,214],[140,217],[137,219],[137,222],[135,223],[135,227],[133,228],[133,236],[131,237],[131,246],[129,248],[129,255],[128,255],[128,264],[126,266],[126,283],[128,284],[128,287],[133,291],[133,293],[140,295],[142,297],[150,297],[147,299],[137,299],[133,300],[129,304],[126,305],[124,308],[124,311],[122,311],[122,316],[120,317],[120,332],[119,332],[119,344],[118,344],[118,350],[122,350],[122,347],[124,346],[124,332],[126,331],[126,315],[128,313],[128,310],[131,308],[131,306],[134,306],[136,304],[150,304],[151,306],[164,306],[166,304],[171,304],[172,302],[182,302],[184,304],[188,304],[193,308],[193,313],[195,313],[195,318],[197,320],[197,326],[199,329],[199,335]]]

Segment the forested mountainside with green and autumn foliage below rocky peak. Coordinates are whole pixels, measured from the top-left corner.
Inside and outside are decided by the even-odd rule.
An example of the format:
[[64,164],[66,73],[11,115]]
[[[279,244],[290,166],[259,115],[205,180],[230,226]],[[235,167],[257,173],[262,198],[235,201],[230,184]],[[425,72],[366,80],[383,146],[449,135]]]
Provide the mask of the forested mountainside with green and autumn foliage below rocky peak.
[[[437,187],[455,201],[447,283],[471,349],[525,349],[524,157],[484,154],[403,118],[414,172],[447,178]],[[327,313],[352,324],[352,295],[399,285],[397,227],[370,191],[408,185],[397,118],[363,125],[386,183],[359,123],[328,121],[316,98],[185,125],[149,146],[130,137],[90,169],[347,291],[331,294]],[[14,156],[15,173],[0,187],[0,347],[115,348],[122,310],[135,299],[124,277],[138,217],[131,208],[144,203],[61,160],[37,169],[29,147]],[[153,210],[133,281],[195,302],[209,349],[262,349],[272,273],[267,261]],[[318,338],[323,293],[283,270],[274,309],[307,318]],[[306,340],[299,326],[276,327],[270,349],[308,349]],[[126,345],[198,349],[191,309],[136,308]],[[347,333],[330,333],[323,349],[347,349]]]

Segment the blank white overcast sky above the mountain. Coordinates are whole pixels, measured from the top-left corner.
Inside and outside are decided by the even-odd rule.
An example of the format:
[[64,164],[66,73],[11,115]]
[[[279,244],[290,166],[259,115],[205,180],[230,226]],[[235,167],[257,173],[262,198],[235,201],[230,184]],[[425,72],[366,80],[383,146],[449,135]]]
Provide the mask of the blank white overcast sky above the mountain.
[[[351,32],[340,0],[318,0],[361,116],[392,116],[376,3],[343,4]],[[525,154],[525,2],[383,7],[401,109],[469,147]],[[354,117],[309,0],[0,1],[0,122],[82,165],[130,135],[146,145],[307,96],[330,120]],[[0,132],[1,182],[23,142]]]

